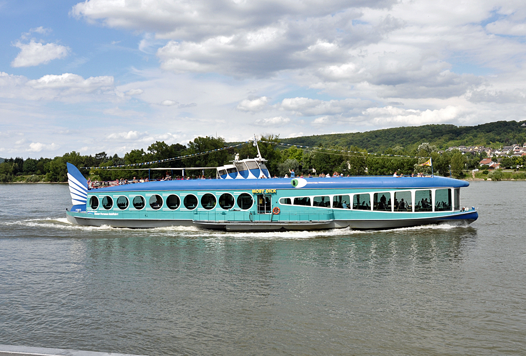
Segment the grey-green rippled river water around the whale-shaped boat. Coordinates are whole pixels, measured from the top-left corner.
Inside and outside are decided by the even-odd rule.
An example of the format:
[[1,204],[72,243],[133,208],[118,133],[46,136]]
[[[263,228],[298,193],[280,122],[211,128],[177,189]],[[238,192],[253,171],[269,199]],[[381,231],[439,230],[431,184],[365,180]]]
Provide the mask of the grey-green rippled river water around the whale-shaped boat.
[[526,353],[526,182],[470,226],[231,233],[70,225],[0,185],[0,344],[145,355]]

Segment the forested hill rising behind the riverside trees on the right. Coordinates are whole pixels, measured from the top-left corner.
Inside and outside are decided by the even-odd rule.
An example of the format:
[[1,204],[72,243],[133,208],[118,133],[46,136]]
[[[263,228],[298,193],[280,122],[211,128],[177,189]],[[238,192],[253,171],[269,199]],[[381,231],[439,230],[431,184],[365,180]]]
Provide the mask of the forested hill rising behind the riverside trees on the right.
[[477,126],[423,125],[396,127],[365,133],[315,135],[281,139],[282,143],[302,146],[351,145],[365,148],[369,152],[380,152],[386,148],[402,146],[408,150],[417,148],[422,142],[429,142],[439,149],[450,146],[484,145],[489,147],[526,142],[526,121],[497,121]]

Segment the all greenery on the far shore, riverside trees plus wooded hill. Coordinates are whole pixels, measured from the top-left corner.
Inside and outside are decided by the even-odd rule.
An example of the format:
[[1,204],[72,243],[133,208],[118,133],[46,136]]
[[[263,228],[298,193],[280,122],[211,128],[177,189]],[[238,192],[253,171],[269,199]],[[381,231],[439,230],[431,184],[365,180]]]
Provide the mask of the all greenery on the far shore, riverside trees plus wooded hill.
[[[392,175],[404,176],[423,173],[431,174],[431,167],[419,166],[432,158],[434,175],[452,176],[466,180],[526,180],[526,170],[479,170],[479,162],[486,158],[485,152],[461,152],[458,149],[447,150],[453,145],[485,145],[499,148],[503,145],[522,144],[526,142],[526,129],[520,121],[498,121],[496,123],[478,126],[457,127],[454,125],[424,125],[418,127],[399,127],[385,130],[368,131],[366,133],[335,134],[306,136],[280,139],[279,135],[265,134],[260,137],[267,143],[259,143],[261,155],[268,160],[267,166],[274,176],[285,176],[289,169],[294,169],[296,175],[318,176],[333,175],[333,172],[343,176]],[[362,144],[361,146],[355,145]],[[390,145],[388,145],[390,143]],[[72,151],[55,158],[22,157],[0,159],[0,182],[66,182],[66,162],[80,167],[110,167],[117,165],[138,164],[147,161],[195,155],[222,149],[235,143],[227,143],[221,137],[197,137],[187,145],[168,145],[164,141],[156,141],[147,150],[134,149],[124,157],[117,154],[108,156],[99,152],[95,156],[83,156]],[[301,149],[297,146],[280,146],[280,144],[310,146],[311,149]],[[401,146],[403,144],[404,146]],[[335,152],[336,149],[345,152]],[[99,181],[116,179],[148,178],[159,179],[166,175],[176,178],[180,171],[170,169],[183,167],[218,167],[229,164],[234,156],[256,157],[257,150],[250,144],[228,148],[202,156],[188,157],[165,162],[163,166],[150,164],[142,168],[166,168],[164,170],[106,170],[101,168],[80,169],[86,178]],[[380,154],[376,156],[372,154]],[[406,156],[406,157],[400,157]],[[526,167],[526,156],[507,157],[513,167]],[[505,168],[505,167],[504,167]],[[170,173],[168,173],[170,171]],[[189,171],[198,174],[201,171]],[[180,174],[180,173],[179,173]],[[214,170],[205,170],[205,177],[215,177]],[[191,178],[192,176],[190,176]],[[195,176],[194,176],[195,178]]]

